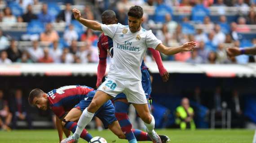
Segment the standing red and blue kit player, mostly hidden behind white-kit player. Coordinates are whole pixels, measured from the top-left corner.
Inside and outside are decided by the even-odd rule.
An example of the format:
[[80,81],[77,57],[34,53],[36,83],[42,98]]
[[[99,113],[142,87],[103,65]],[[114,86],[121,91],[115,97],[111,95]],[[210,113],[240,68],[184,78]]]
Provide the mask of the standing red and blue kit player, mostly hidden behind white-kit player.
[[[102,13],[102,24],[110,25],[110,24],[116,24],[116,23],[117,23],[117,19],[115,16],[115,12],[113,10],[106,10]],[[99,50],[99,64],[98,64],[98,71],[97,71],[96,87],[99,87],[99,85],[102,84],[102,78],[106,72],[107,53],[109,52],[111,57],[113,57],[113,54],[114,54],[113,40],[109,36],[102,34],[99,38],[97,46]],[[162,63],[162,59],[159,51],[154,50],[152,48],[148,48],[148,49],[151,51],[152,55],[154,56],[154,59],[159,68],[159,73],[162,76],[163,81],[168,81],[169,74],[167,70],[163,67],[163,63]],[[145,91],[146,98],[149,99],[151,94],[151,80],[150,80],[150,74],[148,72],[148,68],[146,67],[143,60],[141,64],[141,75],[142,75],[141,84]],[[132,139],[136,139],[132,132],[132,124],[129,121],[129,118],[127,115],[129,104],[125,94],[119,93],[113,100],[115,105],[115,117],[118,118],[119,124],[126,136],[126,139],[128,139],[128,141]],[[164,143],[168,143],[168,142],[170,142],[170,139],[166,138]]]

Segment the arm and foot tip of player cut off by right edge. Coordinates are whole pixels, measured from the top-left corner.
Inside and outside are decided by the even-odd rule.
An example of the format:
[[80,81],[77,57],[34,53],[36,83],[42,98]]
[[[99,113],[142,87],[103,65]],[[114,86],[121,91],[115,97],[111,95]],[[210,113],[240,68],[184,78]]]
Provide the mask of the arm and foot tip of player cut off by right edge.
[[[251,47],[251,48],[244,48],[244,49],[240,49],[238,47],[232,47],[232,48],[227,48],[227,55],[229,57],[234,57],[234,56],[238,56],[238,55],[256,55],[256,46]],[[256,143],[256,130],[255,130],[255,134],[252,140],[252,143]]]

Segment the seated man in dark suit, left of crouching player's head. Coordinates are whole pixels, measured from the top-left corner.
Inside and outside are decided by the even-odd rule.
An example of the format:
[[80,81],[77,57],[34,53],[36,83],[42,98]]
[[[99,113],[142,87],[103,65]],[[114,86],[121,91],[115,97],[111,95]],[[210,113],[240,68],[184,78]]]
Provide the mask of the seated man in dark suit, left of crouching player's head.
[[28,128],[32,129],[32,120],[27,109],[29,108],[27,101],[22,98],[22,90],[17,89],[14,93],[14,99],[11,100],[11,111],[13,113],[13,129],[17,129],[18,120],[26,121]]

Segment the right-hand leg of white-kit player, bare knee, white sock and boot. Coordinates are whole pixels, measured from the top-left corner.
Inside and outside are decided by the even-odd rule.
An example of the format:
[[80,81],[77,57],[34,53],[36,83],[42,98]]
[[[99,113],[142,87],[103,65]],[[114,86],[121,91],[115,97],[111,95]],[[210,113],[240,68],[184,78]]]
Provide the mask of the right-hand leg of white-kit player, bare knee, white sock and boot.
[[161,143],[159,135],[154,131],[154,117],[150,114],[148,104],[132,104],[137,110],[140,118],[146,126],[146,131],[150,135],[153,143]]

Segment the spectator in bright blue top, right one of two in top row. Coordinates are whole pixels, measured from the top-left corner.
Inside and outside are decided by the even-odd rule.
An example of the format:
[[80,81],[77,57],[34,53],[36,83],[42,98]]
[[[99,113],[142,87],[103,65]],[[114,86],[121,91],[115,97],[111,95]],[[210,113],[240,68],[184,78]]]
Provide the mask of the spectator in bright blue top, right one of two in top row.
[[203,0],[196,0],[196,5],[192,8],[192,21],[203,23],[203,18],[209,16],[209,9],[204,7]]

